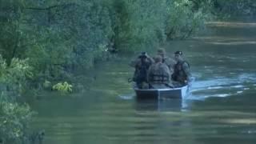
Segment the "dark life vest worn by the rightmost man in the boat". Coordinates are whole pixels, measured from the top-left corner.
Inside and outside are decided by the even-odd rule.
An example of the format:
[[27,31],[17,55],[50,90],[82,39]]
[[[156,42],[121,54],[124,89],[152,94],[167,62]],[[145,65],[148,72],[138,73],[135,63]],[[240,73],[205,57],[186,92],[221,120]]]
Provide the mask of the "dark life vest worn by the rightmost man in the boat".
[[[186,75],[185,71],[183,70],[183,64],[185,62],[186,61],[178,62],[177,64],[175,64],[175,66],[174,66],[174,74],[171,75],[171,78],[174,81],[178,81],[178,82],[185,82],[186,81],[188,76]],[[189,62],[186,62],[186,63],[190,67],[190,63]]]

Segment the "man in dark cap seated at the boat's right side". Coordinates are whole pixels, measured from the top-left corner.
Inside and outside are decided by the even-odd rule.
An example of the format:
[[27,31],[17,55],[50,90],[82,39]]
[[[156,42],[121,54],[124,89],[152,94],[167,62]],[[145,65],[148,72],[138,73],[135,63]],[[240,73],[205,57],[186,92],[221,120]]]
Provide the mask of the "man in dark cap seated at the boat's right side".
[[190,85],[192,75],[190,73],[190,64],[183,59],[182,51],[176,51],[174,58],[177,64],[174,66],[174,74],[171,75],[175,87]]

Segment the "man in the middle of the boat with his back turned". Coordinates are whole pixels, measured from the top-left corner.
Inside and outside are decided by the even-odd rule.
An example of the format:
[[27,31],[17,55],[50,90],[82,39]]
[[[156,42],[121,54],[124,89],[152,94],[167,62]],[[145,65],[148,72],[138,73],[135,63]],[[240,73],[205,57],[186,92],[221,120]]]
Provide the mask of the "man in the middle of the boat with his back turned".
[[150,88],[161,89],[170,88],[170,70],[165,63],[162,63],[162,57],[158,55],[155,59],[155,63],[150,66],[148,71],[148,82]]

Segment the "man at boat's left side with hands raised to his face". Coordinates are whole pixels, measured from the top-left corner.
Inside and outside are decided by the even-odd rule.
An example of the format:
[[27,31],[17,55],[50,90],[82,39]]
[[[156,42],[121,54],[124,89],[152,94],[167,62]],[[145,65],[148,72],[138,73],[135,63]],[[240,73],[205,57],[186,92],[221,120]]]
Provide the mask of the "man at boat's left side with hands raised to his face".
[[139,89],[149,88],[146,77],[147,72],[153,63],[154,59],[150,58],[146,52],[142,52],[137,59],[130,62],[130,66],[135,68],[133,81],[136,82],[136,87]]

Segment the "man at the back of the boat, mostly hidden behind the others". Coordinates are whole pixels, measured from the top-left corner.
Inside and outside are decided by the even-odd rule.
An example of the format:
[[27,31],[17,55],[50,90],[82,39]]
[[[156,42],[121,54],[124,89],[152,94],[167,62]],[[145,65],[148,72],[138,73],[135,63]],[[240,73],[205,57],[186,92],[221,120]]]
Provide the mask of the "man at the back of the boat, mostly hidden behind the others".
[[173,58],[169,58],[166,56],[166,50],[164,49],[158,49],[158,55],[162,57],[162,62],[165,63],[169,69],[170,74],[173,74],[174,72],[174,65],[177,63]]

